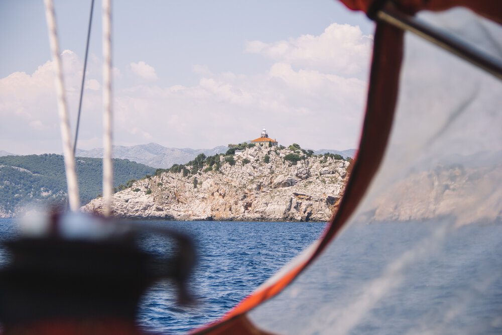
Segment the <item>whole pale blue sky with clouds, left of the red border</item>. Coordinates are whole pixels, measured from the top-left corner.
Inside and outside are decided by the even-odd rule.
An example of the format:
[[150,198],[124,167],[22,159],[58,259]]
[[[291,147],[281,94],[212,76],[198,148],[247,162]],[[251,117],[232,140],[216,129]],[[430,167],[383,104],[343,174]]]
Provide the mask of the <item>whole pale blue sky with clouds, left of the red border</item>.
[[[90,0],[54,1],[74,130]],[[332,0],[115,1],[113,140],[212,148],[260,136],[357,148],[373,24]],[[102,147],[101,2],[77,147]],[[61,153],[41,0],[0,1],[0,150]]]

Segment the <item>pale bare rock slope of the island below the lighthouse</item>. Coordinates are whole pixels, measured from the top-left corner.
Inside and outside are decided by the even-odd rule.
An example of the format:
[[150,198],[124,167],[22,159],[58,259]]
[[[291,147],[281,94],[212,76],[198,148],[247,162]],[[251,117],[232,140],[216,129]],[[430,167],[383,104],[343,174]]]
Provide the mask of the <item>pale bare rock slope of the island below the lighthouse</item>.
[[[349,163],[311,156],[295,165],[284,160],[289,153],[293,151],[277,147],[247,148],[233,156],[234,165],[221,156],[217,171],[188,176],[163,172],[141,179],[113,195],[114,213],[174,220],[329,220],[344,190]],[[82,210],[100,212],[102,199]]]

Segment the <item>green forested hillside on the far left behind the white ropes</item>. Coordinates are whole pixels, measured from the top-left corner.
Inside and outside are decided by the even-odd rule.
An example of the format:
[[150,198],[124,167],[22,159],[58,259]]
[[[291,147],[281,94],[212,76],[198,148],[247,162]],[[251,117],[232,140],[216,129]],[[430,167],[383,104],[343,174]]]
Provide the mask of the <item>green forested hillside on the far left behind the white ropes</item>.
[[[86,204],[102,189],[102,159],[76,158],[80,200]],[[113,160],[113,186],[155,173],[127,159]],[[0,157],[0,212],[15,211],[31,202],[63,204],[66,178],[63,156],[56,154]]]

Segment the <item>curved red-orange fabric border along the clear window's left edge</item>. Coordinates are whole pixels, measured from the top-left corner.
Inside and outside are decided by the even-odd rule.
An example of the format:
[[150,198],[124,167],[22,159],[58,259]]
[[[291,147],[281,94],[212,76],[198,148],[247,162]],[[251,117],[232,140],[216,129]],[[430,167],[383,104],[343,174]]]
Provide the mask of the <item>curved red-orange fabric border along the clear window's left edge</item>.
[[[324,235],[288,266],[262,284],[230,310],[219,322],[202,329],[202,333],[257,333],[245,312],[283,290],[329,244],[353,212],[383,157],[397,96],[399,64],[401,63],[403,32],[388,24],[379,24],[374,43],[371,84],[358,157],[348,180],[336,215]],[[226,332],[225,332],[226,331]],[[201,333],[201,332],[199,332]]]

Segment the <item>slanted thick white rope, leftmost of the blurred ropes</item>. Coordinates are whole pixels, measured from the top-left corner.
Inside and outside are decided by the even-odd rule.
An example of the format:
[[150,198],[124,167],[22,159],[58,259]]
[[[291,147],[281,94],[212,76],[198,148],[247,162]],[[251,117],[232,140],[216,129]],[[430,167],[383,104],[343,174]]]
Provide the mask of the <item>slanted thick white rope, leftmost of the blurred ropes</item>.
[[49,30],[49,42],[51,44],[51,54],[56,72],[55,84],[61,128],[61,139],[63,141],[66,181],[68,184],[68,202],[72,211],[78,211],[80,208],[80,196],[78,194],[77,174],[75,171],[75,156],[73,155],[71,148],[70,122],[68,120],[68,108],[64,90],[63,69],[61,58],[59,56],[59,43],[54,5],[52,3],[52,0],[44,0],[44,4],[47,28]]

